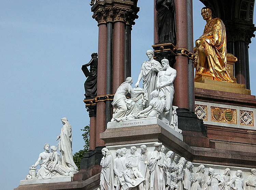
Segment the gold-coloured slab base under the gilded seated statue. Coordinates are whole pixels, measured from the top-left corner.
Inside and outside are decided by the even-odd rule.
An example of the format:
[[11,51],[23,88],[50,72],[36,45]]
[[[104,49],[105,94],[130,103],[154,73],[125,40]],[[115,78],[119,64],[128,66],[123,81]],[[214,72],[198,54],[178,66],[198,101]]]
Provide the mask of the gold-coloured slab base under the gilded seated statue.
[[[212,76],[210,75],[207,77]],[[210,78],[203,78],[201,75],[195,77],[195,88],[251,95],[251,90],[245,89],[245,85],[243,84],[215,81]]]

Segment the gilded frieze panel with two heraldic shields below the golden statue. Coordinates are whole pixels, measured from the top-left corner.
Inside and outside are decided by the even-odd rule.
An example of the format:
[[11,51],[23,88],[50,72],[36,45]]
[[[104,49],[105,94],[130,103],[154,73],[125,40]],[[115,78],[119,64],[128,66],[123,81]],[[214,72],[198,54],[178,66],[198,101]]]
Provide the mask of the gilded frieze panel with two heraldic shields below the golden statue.
[[237,124],[237,110],[211,106],[211,121]]

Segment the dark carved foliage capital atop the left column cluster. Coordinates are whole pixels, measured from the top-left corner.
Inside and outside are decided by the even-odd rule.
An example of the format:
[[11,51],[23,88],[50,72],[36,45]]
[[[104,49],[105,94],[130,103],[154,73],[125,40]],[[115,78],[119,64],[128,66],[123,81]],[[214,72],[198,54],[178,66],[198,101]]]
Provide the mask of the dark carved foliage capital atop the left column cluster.
[[129,0],[104,0],[97,1],[91,11],[94,12],[93,18],[98,24],[122,21],[127,25],[134,25],[139,8]]

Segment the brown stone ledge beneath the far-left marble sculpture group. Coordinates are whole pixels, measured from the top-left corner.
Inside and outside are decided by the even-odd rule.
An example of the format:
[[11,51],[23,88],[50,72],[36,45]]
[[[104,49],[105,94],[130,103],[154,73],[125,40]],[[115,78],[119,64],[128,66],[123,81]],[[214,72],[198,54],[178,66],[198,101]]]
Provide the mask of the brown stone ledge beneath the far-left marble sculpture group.
[[22,185],[18,186],[14,190],[94,190],[99,188],[100,174],[94,175],[89,179],[83,181],[70,181],[61,183],[49,183],[49,184],[35,184],[35,185]]

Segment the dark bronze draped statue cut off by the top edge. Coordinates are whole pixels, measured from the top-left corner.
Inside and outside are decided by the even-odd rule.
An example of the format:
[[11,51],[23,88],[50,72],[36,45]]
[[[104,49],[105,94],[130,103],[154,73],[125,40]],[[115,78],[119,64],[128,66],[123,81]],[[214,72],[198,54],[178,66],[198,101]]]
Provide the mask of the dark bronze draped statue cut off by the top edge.
[[156,0],[158,43],[176,45],[175,4],[173,0]]

